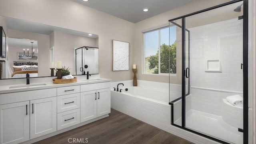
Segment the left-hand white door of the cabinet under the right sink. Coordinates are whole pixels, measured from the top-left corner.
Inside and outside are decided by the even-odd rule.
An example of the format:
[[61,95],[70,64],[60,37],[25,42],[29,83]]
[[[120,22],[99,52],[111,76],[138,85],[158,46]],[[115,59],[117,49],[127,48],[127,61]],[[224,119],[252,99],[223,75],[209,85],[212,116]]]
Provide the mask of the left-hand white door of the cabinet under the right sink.
[[97,118],[97,97],[96,90],[80,93],[81,122]]

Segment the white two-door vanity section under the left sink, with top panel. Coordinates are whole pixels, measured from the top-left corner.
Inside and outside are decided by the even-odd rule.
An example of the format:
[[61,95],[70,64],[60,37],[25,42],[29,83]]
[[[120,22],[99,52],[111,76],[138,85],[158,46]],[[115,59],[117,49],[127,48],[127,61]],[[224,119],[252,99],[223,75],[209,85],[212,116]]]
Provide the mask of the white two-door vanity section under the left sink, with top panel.
[[0,94],[0,104],[0,144],[18,144],[57,130],[56,88]]

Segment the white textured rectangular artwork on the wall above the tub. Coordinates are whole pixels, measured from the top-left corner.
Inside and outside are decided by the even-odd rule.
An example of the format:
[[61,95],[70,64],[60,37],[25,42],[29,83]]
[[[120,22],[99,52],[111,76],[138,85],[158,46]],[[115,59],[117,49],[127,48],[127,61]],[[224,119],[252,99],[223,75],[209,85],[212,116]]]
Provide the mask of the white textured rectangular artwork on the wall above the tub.
[[129,42],[113,40],[113,71],[129,70]]

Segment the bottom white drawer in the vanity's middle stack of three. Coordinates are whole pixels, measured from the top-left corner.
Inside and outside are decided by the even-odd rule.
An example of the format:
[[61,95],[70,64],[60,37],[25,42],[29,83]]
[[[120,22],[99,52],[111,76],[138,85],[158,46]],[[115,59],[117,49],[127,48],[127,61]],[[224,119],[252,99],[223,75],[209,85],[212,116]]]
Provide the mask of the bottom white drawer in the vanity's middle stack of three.
[[80,108],[57,114],[57,130],[80,124]]

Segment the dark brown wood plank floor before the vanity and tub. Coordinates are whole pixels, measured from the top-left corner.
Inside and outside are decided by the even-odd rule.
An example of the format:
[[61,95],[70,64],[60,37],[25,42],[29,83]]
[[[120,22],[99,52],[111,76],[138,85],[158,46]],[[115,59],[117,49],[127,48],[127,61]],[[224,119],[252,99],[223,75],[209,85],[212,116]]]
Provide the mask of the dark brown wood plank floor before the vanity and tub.
[[[70,143],[68,138],[82,138],[84,142]],[[82,144],[87,140],[88,144],[192,144],[114,109],[107,118],[34,144]]]

